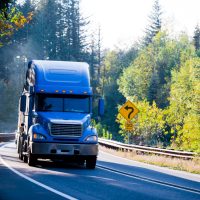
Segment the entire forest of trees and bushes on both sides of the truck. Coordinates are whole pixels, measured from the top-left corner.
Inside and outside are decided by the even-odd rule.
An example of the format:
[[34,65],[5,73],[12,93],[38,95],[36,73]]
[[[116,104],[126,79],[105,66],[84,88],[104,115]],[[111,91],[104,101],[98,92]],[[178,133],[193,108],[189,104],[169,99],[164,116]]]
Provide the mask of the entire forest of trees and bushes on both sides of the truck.
[[[16,129],[28,60],[84,61],[90,64],[95,95],[105,98],[105,115],[96,121],[100,137],[128,142],[118,110],[131,100],[140,112],[133,119],[130,143],[200,153],[198,24],[192,38],[185,32],[172,34],[155,0],[138,42],[126,50],[103,50],[101,30],[88,30],[78,0],[8,2],[0,14],[0,132]],[[96,102],[94,107],[95,115]]]

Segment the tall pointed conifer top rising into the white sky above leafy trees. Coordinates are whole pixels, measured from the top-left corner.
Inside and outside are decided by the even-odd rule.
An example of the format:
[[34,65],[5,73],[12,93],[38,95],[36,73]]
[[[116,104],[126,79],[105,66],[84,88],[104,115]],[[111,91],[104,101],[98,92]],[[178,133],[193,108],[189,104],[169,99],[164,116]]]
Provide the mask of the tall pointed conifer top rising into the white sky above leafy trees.
[[161,11],[161,6],[159,4],[159,0],[155,0],[152,13],[149,16],[150,24],[145,31],[145,37],[144,37],[145,46],[150,44],[152,42],[153,37],[161,30],[162,27],[161,15],[162,11]]

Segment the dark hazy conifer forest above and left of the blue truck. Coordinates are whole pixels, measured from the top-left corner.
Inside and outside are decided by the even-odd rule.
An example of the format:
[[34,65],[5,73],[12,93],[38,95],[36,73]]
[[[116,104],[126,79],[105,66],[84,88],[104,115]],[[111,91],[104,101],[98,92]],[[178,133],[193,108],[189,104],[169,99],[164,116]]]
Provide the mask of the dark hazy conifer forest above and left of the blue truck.
[[[29,12],[31,15],[19,14]],[[0,27],[3,23],[10,28],[0,29],[0,42],[6,44],[0,48],[0,127],[5,128],[5,124],[14,127],[17,121],[17,104],[27,60],[88,61],[90,52],[84,43],[86,24],[82,23],[84,19],[77,0],[27,0],[16,5],[14,10],[10,7],[7,19],[2,16]]]

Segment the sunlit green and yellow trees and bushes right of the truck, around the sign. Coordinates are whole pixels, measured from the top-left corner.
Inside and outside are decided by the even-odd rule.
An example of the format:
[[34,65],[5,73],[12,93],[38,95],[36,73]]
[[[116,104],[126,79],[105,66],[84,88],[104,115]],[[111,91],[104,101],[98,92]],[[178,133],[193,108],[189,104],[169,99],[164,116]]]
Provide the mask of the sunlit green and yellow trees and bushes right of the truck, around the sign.
[[130,143],[200,153],[200,28],[194,28],[193,38],[170,34],[158,1],[149,21],[138,44],[105,55],[107,109],[97,126],[100,135],[128,142],[118,110],[131,100],[140,112],[132,120]]

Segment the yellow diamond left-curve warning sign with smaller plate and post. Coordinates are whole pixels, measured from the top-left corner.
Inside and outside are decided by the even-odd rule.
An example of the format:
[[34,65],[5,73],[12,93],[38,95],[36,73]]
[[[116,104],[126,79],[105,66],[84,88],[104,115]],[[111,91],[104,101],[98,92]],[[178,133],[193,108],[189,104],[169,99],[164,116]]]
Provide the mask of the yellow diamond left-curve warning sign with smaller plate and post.
[[128,144],[130,132],[133,130],[133,123],[131,120],[138,114],[138,112],[139,109],[129,100],[119,109],[119,113],[126,119],[125,130],[128,132]]

